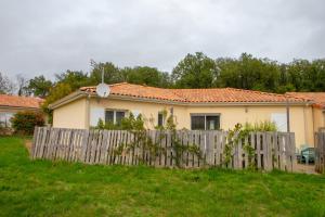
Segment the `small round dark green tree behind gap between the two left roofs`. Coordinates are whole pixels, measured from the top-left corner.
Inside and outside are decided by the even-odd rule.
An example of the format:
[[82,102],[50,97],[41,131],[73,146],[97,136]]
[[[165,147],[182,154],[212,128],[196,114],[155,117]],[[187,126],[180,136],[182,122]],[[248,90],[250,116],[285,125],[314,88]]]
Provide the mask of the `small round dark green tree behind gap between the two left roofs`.
[[35,97],[46,98],[52,88],[52,81],[47,80],[44,76],[36,76],[28,81],[27,89]]

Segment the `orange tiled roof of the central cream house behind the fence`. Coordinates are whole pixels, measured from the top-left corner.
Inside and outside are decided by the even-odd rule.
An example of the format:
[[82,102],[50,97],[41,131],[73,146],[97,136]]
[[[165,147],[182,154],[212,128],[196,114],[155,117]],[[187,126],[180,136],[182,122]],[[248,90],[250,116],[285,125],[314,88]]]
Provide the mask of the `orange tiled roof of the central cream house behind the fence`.
[[[303,103],[308,101],[301,98],[286,97],[285,94],[235,88],[165,89],[128,82],[109,85],[109,87],[112,95],[126,95],[140,99],[167,100],[186,103],[284,103],[287,100],[292,103]],[[80,88],[80,91],[95,93],[95,87],[82,87]]]

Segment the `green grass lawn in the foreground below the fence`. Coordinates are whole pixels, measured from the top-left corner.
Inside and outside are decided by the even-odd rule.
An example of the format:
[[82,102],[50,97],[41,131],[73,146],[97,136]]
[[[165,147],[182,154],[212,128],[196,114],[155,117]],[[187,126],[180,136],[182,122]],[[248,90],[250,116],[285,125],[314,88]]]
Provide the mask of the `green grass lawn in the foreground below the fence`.
[[0,138],[0,216],[325,216],[325,176],[30,161]]

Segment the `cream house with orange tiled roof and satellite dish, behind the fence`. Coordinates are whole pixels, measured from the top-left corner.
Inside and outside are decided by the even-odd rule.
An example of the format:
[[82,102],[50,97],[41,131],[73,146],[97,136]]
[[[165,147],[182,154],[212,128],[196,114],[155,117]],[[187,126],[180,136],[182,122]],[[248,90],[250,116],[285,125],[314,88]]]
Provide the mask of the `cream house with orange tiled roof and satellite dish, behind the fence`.
[[96,126],[100,118],[119,123],[132,112],[142,114],[147,128],[154,128],[164,123],[161,112],[167,110],[180,129],[227,130],[237,123],[271,120],[286,131],[288,107],[297,148],[314,145],[315,103],[299,95],[234,88],[164,89],[127,82],[109,87],[110,94],[105,99],[96,95],[95,87],[82,87],[51,104],[53,127],[88,129]]

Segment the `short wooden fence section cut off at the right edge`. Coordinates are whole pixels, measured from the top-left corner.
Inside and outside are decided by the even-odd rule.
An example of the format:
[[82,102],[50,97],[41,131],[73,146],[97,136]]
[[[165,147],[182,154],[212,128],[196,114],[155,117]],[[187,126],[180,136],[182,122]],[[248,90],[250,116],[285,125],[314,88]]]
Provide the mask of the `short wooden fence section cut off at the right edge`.
[[325,173],[325,131],[315,132],[315,169]]

